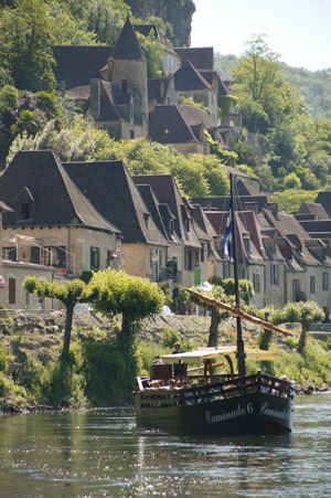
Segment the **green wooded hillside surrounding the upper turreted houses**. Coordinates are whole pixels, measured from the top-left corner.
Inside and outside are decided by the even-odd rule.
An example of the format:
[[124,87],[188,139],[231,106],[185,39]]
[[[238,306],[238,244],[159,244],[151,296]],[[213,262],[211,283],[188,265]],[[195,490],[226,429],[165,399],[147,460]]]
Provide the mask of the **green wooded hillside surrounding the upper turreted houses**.
[[[264,40],[253,40],[239,59],[224,59],[234,84],[226,105],[243,116],[243,129],[229,141],[233,153],[212,144],[207,157],[183,156],[171,147],[147,140],[115,142],[56,92],[54,44],[114,44],[130,9],[124,0],[15,0],[0,1],[0,165],[8,163],[20,148],[52,148],[65,160],[124,159],[135,173],[175,174],[188,195],[224,194],[224,165],[242,167],[256,174],[265,191],[324,189],[331,174],[331,120],[317,119],[327,113],[323,91],[319,103],[305,104],[289,83],[284,64]],[[135,20],[134,18],[134,21]],[[166,33],[167,25],[157,22]],[[160,75],[160,44],[141,38],[149,73]],[[216,57],[222,70],[222,57]],[[307,88],[309,72],[302,72]],[[296,72],[300,80],[299,70]],[[321,77],[325,84],[330,74]],[[309,83],[309,84],[308,84]],[[303,89],[303,94],[308,91]],[[325,97],[325,98],[324,98]],[[220,103],[222,105],[222,103]],[[223,103],[224,104],[224,103]],[[220,108],[220,113],[222,110]],[[327,114],[325,114],[327,116]],[[211,137],[209,137],[211,140]]]

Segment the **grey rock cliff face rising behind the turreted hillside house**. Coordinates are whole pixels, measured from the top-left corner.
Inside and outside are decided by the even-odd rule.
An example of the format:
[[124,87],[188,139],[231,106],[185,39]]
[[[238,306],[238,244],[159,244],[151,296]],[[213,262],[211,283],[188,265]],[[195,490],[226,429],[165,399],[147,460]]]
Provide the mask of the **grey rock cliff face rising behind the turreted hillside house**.
[[193,0],[126,0],[134,15],[148,18],[157,15],[169,22],[173,29],[174,46],[190,46],[191,23],[195,12]]

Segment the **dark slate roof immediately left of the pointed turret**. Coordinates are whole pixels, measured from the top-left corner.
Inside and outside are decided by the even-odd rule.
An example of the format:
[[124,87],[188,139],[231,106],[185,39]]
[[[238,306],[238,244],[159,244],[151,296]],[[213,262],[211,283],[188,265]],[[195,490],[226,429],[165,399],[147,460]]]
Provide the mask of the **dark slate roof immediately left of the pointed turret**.
[[108,45],[55,45],[55,77],[66,88],[89,85],[99,77],[99,71],[113,57],[114,47]]

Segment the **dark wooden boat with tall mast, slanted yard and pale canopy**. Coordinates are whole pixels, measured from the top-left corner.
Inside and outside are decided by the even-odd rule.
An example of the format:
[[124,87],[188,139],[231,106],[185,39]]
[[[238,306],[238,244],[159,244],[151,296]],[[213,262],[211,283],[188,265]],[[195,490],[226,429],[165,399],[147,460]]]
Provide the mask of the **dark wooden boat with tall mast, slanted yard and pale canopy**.
[[[136,391],[138,423],[184,431],[194,434],[278,434],[291,430],[291,404],[293,390],[285,378],[274,378],[257,371],[246,374],[246,352],[242,331],[242,319],[248,320],[265,330],[291,335],[266,320],[260,320],[241,309],[238,265],[236,253],[236,230],[233,202],[233,176],[231,176],[231,216],[233,264],[235,280],[235,306],[224,303],[194,289],[188,289],[194,297],[207,305],[222,308],[236,317],[236,346],[206,348],[162,357],[164,364],[152,365],[150,378],[138,378]],[[237,373],[234,372],[232,354],[236,354]],[[228,373],[216,374],[223,357],[228,364]],[[190,363],[200,361],[203,374],[194,374],[186,369]],[[182,372],[175,377],[174,365]],[[185,370],[185,371],[184,371]]]

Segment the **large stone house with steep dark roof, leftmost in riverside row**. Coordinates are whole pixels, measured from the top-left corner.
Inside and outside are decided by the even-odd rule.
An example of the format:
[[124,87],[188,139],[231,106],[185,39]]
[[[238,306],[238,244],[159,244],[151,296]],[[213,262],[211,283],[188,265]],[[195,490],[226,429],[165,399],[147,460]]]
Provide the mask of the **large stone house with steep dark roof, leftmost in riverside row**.
[[20,151],[0,178],[2,254],[57,275],[120,265],[121,233],[107,222],[51,151]]

